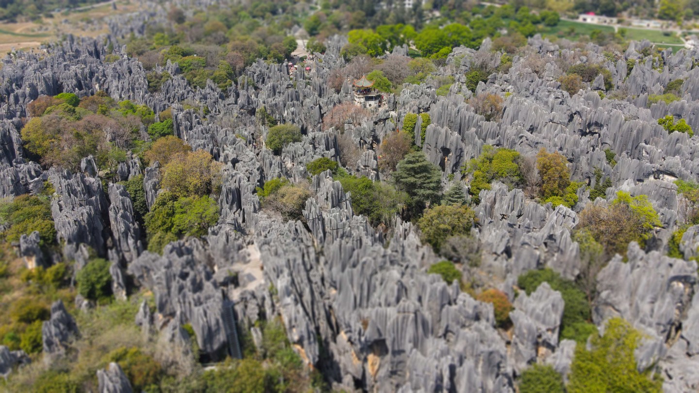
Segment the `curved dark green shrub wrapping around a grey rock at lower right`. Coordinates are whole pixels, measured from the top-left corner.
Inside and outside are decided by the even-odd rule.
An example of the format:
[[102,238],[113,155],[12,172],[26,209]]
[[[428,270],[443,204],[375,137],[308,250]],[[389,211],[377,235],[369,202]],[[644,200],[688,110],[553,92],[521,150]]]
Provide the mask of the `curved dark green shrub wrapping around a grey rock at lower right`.
[[589,327],[594,329],[594,325],[587,322],[590,319],[590,303],[585,292],[551,269],[531,270],[517,278],[517,286],[528,295],[542,283],[549,283],[552,290],[561,292],[565,302],[561,318],[561,338],[569,338],[577,342],[586,341],[589,336]]

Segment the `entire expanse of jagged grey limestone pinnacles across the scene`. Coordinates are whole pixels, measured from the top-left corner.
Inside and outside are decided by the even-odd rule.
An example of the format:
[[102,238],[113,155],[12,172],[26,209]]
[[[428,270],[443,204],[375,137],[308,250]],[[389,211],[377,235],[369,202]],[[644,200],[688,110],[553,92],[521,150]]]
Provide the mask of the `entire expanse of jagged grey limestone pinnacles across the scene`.
[[[159,21],[166,21],[166,10],[155,6],[148,13],[114,20],[107,40],[117,43],[131,33],[143,34],[146,23]],[[327,83],[331,72],[345,65],[339,52],[346,38],[331,38],[311,73],[289,75],[281,64],[258,61],[245,70],[247,78],[226,92],[211,82],[192,89],[178,64],[168,61],[156,71],[168,71],[173,78],[160,92],[150,93],[146,70],[136,59],[117,49],[121,59],[103,62],[107,54],[103,42],[69,37],[41,56],[25,54],[3,61],[0,197],[37,194],[48,180],[55,188],[52,215],[64,258],[75,260],[80,269],[91,252],[108,257],[117,296],[127,294],[126,273],[154,292],[155,310],[151,313],[141,304],[135,322],[146,333],[159,331],[159,343],[168,350],[191,350],[191,338],[182,329],[191,324],[205,357],[236,356],[240,354],[236,322],[250,329],[259,343],[254,322],[281,315],[302,359],[321,369],[338,389],[513,392],[514,378],[532,362],[552,364],[564,376],[568,373],[575,343],[558,340],[563,299],[548,285],[531,296],[519,294],[511,314],[512,338],[505,338],[495,327],[491,305],[426,274],[438,257],[421,245],[412,224],[396,217],[390,232],[374,229],[366,217],[355,215],[352,196],[329,171],[310,179],[312,197],[305,201],[303,222],[280,222],[261,210],[255,187],[280,177],[305,182],[308,162],[340,158],[336,130],[323,129],[322,117],[351,94],[349,83],[338,93]],[[466,88],[464,73],[479,62],[494,68],[501,55],[489,50],[489,40],[480,50],[455,48],[447,58],[447,66],[453,67],[438,71],[456,81],[447,97],[437,96],[429,80],[423,85],[405,84],[369,119],[346,124],[345,136],[359,149],[349,165],[354,167],[346,169],[372,180],[388,180],[378,171],[377,146],[402,127],[406,113],[428,113],[431,125],[425,141],[421,143],[418,132],[416,142],[440,166],[445,185],[452,180],[450,175],[460,180],[461,166],[490,144],[524,156],[535,155],[540,148],[561,152],[568,158],[572,178],[591,187],[599,169],[603,178],[612,180],[605,198],[596,201],[603,206],[620,190],[648,195],[663,229],[649,241],[649,250],[632,244],[628,262],[617,257],[600,272],[594,322],[601,326],[608,317],[626,318],[648,335],[637,351],[639,366],[657,362],[668,392],[696,390],[696,263],[662,254],[670,234],[686,218],[684,199],[678,199],[672,180],[699,178],[699,139],[668,134],[657,119],[676,115],[699,129],[699,71],[693,66],[699,51],[662,52],[664,66],[658,70],[652,57],[640,55],[651,45],[647,42],[633,43],[616,62],[607,60],[603,48],[593,44],[586,45],[584,56],[565,40],[554,44],[535,36],[528,45],[548,59],[538,73],[526,58],[516,57],[509,71],[491,74],[475,93]],[[635,62],[630,73],[628,60]],[[585,84],[571,97],[557,82],[563,70],[556,61],[600,63],[610,71],[612,85],[628,92],[628,98],[601,99],[596,90],[605,88],[603,78]],[[647,105],[649,94],[663,92],[677,78],[685,80],[681,101]],[[143,103],[156,113],[171,108],[175,135],[224,164],[222,187],[215,195],[221,215],[208,236],[171,243],[163,255],[144,252],[128,193],[116,184],[105,192],[92,157],[82,160],[80,173],[44,171],[27,162],[19,132],[21,118],[28,115],[27,103],[41,94],[75,92],[82,97],[97,90],[114,99]],[[486,121],[468,103],[473,94],[482,93],[507,97],[500,121]],[[206,106],[206,114],[185,110],[185,99]],[[258,141],[264,140],[268,129],[255,117],[262,107],[276,121],[298,125],[303,141],[285,146],[280,155],[264,148]],[[418,117],[416,129],[421,122]],[[605,149],[614,152],[617,164],[607,161]],[[131,155],[118,166],[115,180],[143,174],[150,208],[160,191],[159,171],[159,163],[145,167]],[[531,269],[546,266],[575,278],[580,251],[571,233],[589,192],[583,190],[579,197],[572,209],[542,205],[527,199],[522,190],[493,183],[491,190],[480,193],[474,209],[473,234],[482,262],[478,269],[465,268],[465,273],[491,277],[510,299],[517,276]],[[696,226],[690,227],[682,236],[679,248],[686,259],[699,255],[697,232]],[[41,262],[37,234],[22,237],[20,255],[27,264]],[[55,303],[51,320],[43,326],[44,352],[59,356],[74,334],[78,331],[72,317],[62,303]],[[2,351],[0,347],[0,359],[9,359],[2,357]],[[0,370],[2,364],[10,364],[3,362]],[[110,364],[98,376],[103,392],[130,390],[116,365]]]

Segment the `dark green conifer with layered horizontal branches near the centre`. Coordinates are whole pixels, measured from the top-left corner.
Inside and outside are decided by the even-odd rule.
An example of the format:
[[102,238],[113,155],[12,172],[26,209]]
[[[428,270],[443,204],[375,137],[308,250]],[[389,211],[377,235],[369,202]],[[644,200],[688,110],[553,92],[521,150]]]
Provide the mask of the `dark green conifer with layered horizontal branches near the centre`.
[[427,203],[437,203],[442,189],[442,173],[438,166],[427,161],[424,152],[414,152],[398,162],[393,173],[398,190],[410,197],[416,213],[420,213]]

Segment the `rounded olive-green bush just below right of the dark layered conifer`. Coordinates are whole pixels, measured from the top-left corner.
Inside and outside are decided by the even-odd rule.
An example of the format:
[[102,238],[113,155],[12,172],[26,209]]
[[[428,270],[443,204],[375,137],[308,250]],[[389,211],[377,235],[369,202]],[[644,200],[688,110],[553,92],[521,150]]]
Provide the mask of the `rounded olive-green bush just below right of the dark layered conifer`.
[[417,222],[424,243],[438,251],[450,236],[466,235],[475,220],[475,213],[467,206],[442,205],[428,208]]

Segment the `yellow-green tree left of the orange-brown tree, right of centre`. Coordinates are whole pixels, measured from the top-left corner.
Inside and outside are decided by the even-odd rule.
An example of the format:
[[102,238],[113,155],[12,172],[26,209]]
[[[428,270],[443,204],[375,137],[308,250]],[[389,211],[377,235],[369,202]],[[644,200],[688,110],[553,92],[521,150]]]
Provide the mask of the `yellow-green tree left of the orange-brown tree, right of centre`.
[[490,183],[494,180],[500,180],[510,187],[518,185],[521,182],[518,159],[519,153],[514,150],[484,145],[481,155],[471,159],[461,170],[464,175],[473,174],[468,190],[473,196],[473,203],[478,203],[481,190],[490,190]]

